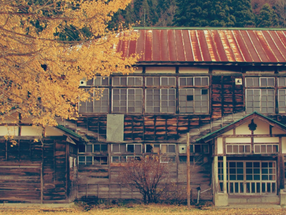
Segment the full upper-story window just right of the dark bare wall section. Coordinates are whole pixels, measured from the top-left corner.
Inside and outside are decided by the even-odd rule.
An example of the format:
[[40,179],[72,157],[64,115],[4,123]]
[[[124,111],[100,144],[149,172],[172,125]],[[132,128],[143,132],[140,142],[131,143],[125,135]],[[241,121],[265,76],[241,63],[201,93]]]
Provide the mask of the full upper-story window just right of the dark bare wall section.
[[246,112],[275,113],[274,89],[249,89],[249,88],[273,88],[273,77],[246,78]]

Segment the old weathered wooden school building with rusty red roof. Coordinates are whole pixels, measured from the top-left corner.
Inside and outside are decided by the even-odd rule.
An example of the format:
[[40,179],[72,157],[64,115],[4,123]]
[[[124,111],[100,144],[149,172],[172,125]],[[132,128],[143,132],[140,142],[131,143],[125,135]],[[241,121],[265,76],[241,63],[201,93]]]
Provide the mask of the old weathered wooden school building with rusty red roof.
[[[0,126],[0,200],[66,203],[76,198],[136,199],[118,183],[128,158],[161,154],[171,182],[202,199],[286,204],[286,31],[244,28],[137,28],[120,41],[141,54],[135,73],[82,80],[100,89],[77,121],[32,127],[20,110]],[[15,133],[11,147],[4,136]],[[128,176],[126,176],[128,177]],[[211,189],[210,189],[211,188]]]

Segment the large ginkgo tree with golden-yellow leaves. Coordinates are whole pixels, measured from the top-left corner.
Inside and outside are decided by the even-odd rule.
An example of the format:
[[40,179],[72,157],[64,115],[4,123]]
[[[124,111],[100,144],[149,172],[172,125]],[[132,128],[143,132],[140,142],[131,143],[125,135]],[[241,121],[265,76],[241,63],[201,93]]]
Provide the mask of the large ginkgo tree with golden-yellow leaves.
[[0,113],[17,107],[33,124],[56,125],[55,117],[75,119],[76,104],[89,99],[79,89],[83,77],[133,72],[138,56],[122,58],[120,34],[107,29],[129,2],[0,0]]

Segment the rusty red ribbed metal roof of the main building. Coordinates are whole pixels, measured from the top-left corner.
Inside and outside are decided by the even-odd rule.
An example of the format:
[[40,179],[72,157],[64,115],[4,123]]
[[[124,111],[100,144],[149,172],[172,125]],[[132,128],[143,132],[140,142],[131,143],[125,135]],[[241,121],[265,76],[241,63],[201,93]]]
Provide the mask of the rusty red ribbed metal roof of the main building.
[[120,41],[123,57],[138,62],[286,63],[286,29],[134,28],[137,41]]

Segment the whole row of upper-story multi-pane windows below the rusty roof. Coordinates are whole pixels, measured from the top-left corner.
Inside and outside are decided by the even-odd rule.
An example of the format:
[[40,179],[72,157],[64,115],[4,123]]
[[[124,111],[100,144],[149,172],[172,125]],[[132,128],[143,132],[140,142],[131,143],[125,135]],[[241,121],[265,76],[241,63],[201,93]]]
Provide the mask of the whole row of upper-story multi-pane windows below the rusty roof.
[[[113,77],[111,86],[109,77],[87,81],[87,86],[98,89],[89,101],[80,102],[79,112],[109,113],[111,105],[111,113],[209,113],[209,77],[144,78]],[[276,105],[279,113],[286,113],[285,77],[246,77],[245,88],[247,113],[275,113]],[[100,94],[97,99],[96,94]]]

